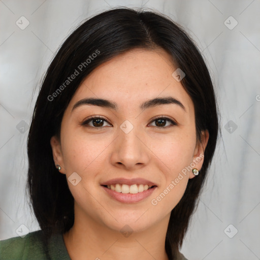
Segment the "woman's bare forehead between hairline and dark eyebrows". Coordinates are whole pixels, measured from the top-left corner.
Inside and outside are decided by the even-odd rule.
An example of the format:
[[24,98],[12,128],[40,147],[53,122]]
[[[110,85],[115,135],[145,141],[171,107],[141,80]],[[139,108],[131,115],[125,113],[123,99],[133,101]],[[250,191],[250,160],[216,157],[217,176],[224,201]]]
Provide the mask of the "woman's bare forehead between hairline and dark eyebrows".
[[189,95],[172,77],[176,69],[171,56],[162,49],[128,51],[95,68],[78,87],[70,105],[92,97],[112,100],[123,108],[173,96],[190,112],[193,105]]

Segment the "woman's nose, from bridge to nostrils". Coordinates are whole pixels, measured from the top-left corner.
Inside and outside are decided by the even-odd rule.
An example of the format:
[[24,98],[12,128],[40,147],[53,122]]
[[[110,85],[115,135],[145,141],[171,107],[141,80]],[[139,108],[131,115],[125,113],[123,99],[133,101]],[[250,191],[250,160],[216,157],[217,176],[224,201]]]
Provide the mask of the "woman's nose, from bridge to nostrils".
[[149,159],[149,148],[138,127],[134,127],[127,134],[118,128],[118,137],[112,148],[111,163],[125,170],[133,170],[147,165]]

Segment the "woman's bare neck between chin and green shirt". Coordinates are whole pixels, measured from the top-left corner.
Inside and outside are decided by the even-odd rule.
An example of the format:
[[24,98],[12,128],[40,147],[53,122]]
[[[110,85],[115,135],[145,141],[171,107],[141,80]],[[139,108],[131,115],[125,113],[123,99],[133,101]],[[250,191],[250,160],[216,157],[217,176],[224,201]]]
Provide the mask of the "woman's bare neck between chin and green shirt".
[[127,234],[123,232],[127,231],[126,226],[122,232],[115,231],[90,217],[75,214],[74,225],[63,239],[72,260],[168,260],[165,238],[169,217],[149,230]]

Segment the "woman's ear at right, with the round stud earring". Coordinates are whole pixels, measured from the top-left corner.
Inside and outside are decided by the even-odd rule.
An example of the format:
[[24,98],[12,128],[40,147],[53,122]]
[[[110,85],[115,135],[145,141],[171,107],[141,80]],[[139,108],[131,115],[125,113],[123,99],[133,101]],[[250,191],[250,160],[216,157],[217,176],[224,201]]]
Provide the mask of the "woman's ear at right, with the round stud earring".
[[[204,151],[206,149],[206,146],[208,144],[209,141],[209,131],[208,129],[206,129],[205,131],[202,132],[202,141],[201,142],[197,142],[196,148],[194,150],[194,154],[192,157],[192,163],[191,165],[194,166],[193,168],[197,168],[198,171],[201,170],[202,165],[203,165],[203,161],[204,161]],[[192,171],[190,171],[189,173],[189,179],[194,178],[196,175],[194,175],[192,173]]]

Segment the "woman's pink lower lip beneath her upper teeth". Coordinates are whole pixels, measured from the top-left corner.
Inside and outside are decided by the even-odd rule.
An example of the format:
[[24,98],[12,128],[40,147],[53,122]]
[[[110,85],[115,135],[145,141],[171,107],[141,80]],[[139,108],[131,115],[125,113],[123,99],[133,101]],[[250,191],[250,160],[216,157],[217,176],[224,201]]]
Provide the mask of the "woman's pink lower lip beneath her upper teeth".
[[152,192],[157,188],[157,186],[135,194],[117,192],[105,186],[102,186],[102,188],[109,194],[110,197],[112,197],[116,201],[123,203],[136,203],[149,197],[152,194]]

